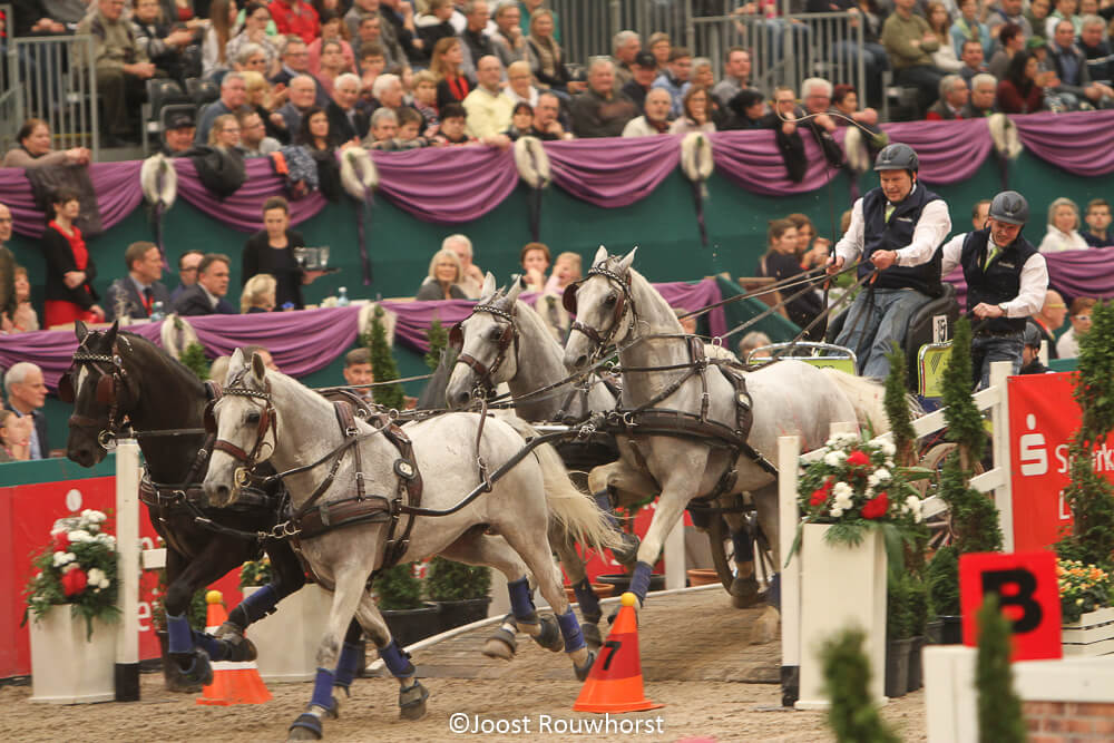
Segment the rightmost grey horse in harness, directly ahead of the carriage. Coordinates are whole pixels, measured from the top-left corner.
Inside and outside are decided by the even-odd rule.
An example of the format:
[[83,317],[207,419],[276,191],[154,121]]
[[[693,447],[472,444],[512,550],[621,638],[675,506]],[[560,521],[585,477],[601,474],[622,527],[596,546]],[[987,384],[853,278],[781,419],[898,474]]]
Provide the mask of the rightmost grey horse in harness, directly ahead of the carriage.
[[[668,410],[677,420],[691,424],[688,432],[671,436],[663,433],[667,423],[661,417],[651,420],[638,412],[631,414],[627,421],[633,426],[616,433],[620,459],[593,470],[589,478],[592,483],[603,482],[624,490],[661,492],[631,581],[631,590],[642,600],[649,585],[651,566],[657,560],[665,536],[694,498],[713,495],[727,498],[749,491],[759,524],[774,551],[774,564],[780,564],[776,476],[769,463],[775,457],[778,437],[798,434],[808,451],[827,440],[834,422],[857,422],[862,427],[869,421],[874,433],[887,431],[889,423],[880,384],[800,361],[783,360],[745,373],[746,395],[740,395],[715,366],[707,369],[703,380],[698,373],[690,375],[691,344],[677,338],[684,331],[668,303],[631,267],[634,254],[631,251],[623,257],[609,256],[600,247],[585,281],[565,290],[566,306],[576,314],[565,348],[565,363],[571,370],[585,369],[614,343],[619,346],[624,369],[623,409]],[[569,296],[570,292],[575,294]],[[666,338],[655,338],[658,335]],[[638,371],[661,366],[673,369]],[[752,416],[745,437],[750,452],[730,446],[730,432],[740,430],[736,402],[750,408]],[[693,424],[702,409],[706,410],[704,420],[723,428]],[[639,432],[639,426],[644,432]],[[702,428],[726,430],[729,434],[717,438],[692,432]],[[736,583],[743,577],[736,577]],[[771,587],[771,594],[774,604],[775,586]],[[769,633],[775,618],[775,614],[766,614],[765,632]]]

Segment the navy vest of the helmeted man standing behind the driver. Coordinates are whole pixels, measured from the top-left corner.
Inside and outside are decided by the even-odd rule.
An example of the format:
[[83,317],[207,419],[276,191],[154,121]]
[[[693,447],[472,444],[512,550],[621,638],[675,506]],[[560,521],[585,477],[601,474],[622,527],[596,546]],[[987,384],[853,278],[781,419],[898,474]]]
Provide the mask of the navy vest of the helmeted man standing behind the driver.
[[[959,265],[967,281],[968,312],[979,302],[1001,304],[1015,299],[1022,290],[1022,268],[1037,253],[1037,248],[1018,234],[1008,247],[999,248],[998,255],[984,270],[989,241],[989,227],[968,233],[964,238]],[[1020,333],[1025,330],[1025,317],[991,317],[981,329],[991,333]]]

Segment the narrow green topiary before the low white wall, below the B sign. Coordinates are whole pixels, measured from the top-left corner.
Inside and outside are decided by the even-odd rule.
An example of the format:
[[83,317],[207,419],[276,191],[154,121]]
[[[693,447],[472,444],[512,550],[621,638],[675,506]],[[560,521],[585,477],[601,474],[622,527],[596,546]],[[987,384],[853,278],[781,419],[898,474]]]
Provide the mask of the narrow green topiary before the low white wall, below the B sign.
[[1022,700],[1014,691],[1009,666],[1009,620],[998,608],[998,597],[989,594],[978,613],[978,658],[975,687],[978,690],[979,743],[1024,743]]

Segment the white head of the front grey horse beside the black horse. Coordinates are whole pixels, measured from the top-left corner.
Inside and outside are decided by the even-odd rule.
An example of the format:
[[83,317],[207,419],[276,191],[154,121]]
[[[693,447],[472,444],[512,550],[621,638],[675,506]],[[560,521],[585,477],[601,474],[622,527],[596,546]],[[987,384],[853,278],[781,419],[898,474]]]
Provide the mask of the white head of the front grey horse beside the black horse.
[[[209,505],[235,502],[252,482],[252,470],[274,452],[278,417],[271,403],[271,381],[263,356],[245,361],[241,349],[232,354],[224,390],[212,403],[205,427],[216,437],[204,490]],[[265,456],[264,456],[265,453]]]

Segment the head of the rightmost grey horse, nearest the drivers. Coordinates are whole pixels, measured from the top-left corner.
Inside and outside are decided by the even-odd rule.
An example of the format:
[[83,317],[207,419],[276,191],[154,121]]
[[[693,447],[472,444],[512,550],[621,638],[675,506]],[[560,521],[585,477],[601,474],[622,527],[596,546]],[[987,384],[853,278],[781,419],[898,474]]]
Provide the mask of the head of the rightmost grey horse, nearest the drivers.
[[622,341],[634,325],[631,264],[637,250],[617,256],[608,255],[600,245],[588,275],[565,289],[565,309],[576,315],[565,344],[565,365],[570,371],[587,366],[609,344]]

